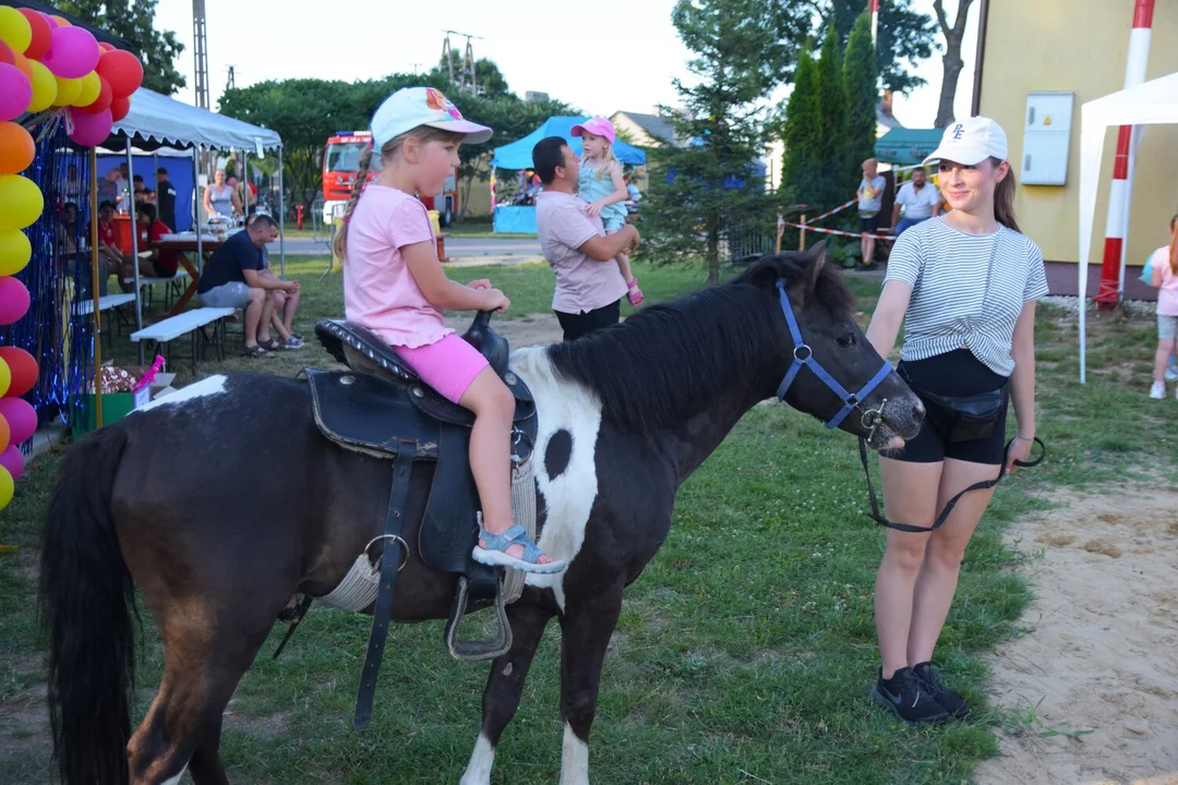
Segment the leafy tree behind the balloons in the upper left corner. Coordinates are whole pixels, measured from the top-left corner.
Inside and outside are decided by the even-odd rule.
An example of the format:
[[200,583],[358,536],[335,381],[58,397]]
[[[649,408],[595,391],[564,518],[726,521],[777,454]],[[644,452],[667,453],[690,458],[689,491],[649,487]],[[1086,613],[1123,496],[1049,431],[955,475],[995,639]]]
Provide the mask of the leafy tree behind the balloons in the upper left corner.
[[61,0],[57,5],[67,14],[125,39],[144,64],[144,87],[171,95],[185,86],[184,75],[176,69],[184,45],[172,31],[155,29],[158,0]]

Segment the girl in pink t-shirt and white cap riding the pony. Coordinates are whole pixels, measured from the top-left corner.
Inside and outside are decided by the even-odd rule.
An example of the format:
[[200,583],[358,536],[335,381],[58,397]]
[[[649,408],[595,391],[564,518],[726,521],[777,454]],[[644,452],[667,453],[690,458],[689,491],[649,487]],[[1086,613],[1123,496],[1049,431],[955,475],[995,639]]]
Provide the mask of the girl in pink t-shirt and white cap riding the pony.
[[[490,281],[466,286],[442,270],[425,206],[458,165],[458,146],[491,129],[463,119],[441,92],[399,89],[372,117],[373,149],[360,158],[336,253],[344,259],[344,310],[390,346],[422,380],[475,413],[470,468],[482,501],[474,558],[525,572],[560,572],[514,521],[511,418],[515,398],[485,358],[442,320],[442,311],[507,311]],[[380,174],[366,184],[370,168]]]

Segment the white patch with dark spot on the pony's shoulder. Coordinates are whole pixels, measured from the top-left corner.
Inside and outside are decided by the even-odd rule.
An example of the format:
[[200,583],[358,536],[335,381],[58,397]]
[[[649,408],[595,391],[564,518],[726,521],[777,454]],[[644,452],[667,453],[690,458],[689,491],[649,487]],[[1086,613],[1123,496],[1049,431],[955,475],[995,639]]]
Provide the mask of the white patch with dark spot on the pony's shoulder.
[[[561,378],[552,368],[545,348],[519,350],[511,355],[511,368],[527,382],[536,399],[540,430],[536,433],[536,485],[544,498],[547,519],[540,547],[554,559],[571,564],[581,552],[594,499],[597,498],[596,447],[601,430],[601,401],[591,390]],[[573,437],[568,466],[558,477],[548,477],[544,453],[557,431]],[[529,586],[549,587],[564,610],[564,574],[529,573]]]

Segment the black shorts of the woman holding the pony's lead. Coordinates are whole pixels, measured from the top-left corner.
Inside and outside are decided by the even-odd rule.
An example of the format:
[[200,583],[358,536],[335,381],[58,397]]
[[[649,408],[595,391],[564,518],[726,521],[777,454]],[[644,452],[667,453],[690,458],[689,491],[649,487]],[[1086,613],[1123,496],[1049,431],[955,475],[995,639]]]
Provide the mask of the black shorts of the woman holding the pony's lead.
[[[994,373],[967,348],[947,354],[938,354],[927,360],[901,362],[909,386],[918,395],[931,392],[934,395],[973,395],[998,390],[1007,378]],[[922,397],[922,395],[921,395]],[[928,403],[925,403],[928,407]],[[920,433],[909,439],[899,454],[889,455],[909,464],[939,464],[946,458],[967,460],[973,464],[999,466],[1006,454],[1006,410],[1002,406],[994,424],[994,431],[985,439],[949,441],[932,421],[926,418]]]

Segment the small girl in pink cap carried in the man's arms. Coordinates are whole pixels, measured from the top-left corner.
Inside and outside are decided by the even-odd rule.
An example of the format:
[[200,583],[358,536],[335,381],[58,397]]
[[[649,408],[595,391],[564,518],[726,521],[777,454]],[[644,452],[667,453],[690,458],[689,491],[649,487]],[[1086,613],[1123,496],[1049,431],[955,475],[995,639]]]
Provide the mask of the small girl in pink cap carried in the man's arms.
[[[589,202],[589,215],[601,215],[605,234],[621,232],[626,226],[626,202],[630,192],[622,179],[622,165],[614,157],[614,124],[605,118],[593,118],[573,126],[574,137],[581,137],[581,177],[577,195]],[[617,254],[617,270],[629,293],[630,305],[642,305],[642,290],[630,272],[630,255]]]

